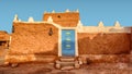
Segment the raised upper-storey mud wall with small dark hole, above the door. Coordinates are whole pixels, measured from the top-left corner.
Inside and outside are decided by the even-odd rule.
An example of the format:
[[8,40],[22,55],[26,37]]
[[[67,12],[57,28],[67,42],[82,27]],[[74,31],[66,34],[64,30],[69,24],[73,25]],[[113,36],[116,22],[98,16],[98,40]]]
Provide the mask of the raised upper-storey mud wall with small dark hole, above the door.
[[79,13],[77,12],[45,13],[43,21],[47,21],[50,16],[52,16],[54,23],[63,27],[75,27],[79,21]]

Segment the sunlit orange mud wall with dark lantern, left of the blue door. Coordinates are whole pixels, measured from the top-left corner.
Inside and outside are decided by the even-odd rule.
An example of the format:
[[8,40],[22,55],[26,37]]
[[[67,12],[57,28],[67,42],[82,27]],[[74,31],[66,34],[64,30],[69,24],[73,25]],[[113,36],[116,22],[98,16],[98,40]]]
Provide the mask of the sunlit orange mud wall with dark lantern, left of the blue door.
[[[13,23],[10,54],[53,54],[57,55],[58,29],[47,23]],[[50,36],[50,28],[53,35]]]

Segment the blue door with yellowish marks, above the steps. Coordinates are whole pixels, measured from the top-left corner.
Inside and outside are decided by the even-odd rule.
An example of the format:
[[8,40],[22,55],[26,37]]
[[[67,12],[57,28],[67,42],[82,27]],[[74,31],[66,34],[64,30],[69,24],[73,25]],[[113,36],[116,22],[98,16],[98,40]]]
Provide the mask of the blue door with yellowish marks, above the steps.
[[75,30],[62,29],[62,55],[74,57],[75,55]]

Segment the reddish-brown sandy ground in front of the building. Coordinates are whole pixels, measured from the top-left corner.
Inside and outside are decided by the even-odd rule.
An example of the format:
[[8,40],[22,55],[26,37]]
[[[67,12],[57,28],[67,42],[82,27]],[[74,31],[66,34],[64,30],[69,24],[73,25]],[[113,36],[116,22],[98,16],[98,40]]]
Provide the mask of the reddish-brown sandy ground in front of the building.
[[132,74],[132,64],[95,63],[84,64],[80,69],[62,71],[53,64],[26,63],[18,67],[0,66],[0,74]]

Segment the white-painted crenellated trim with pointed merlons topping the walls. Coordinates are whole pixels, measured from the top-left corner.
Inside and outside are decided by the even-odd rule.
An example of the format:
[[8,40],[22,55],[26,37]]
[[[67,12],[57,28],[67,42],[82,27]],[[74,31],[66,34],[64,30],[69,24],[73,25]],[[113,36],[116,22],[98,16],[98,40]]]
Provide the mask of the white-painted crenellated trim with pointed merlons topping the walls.
[[[53,12],[55,13],[55,11]],[[66,12],[69,12],[69,10],[67,10]],[[30,16],[29,21],[24,22],[21,21],[19,16],[15,14],[13,23],[34,23],[34,24],[48,23],[48,24],[53,24],[57,28],[63,28],[61,24],[53,22],[52,16],[48,16],[47,21],[41,21],[41,22],[34,21],[34,18]],[[98,26],[84,26],[81,21],[78,21],[77,26],[75,26],[74,28],[76,28],[78,33],[131,33],[130,27],[121,26],[121,24],[118,21],[114,23],[113,26],[105,26],[102,21],[99,22]]]

